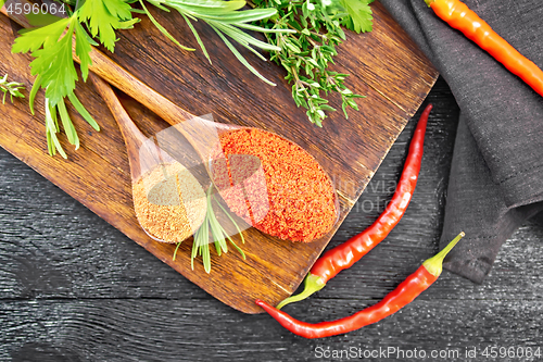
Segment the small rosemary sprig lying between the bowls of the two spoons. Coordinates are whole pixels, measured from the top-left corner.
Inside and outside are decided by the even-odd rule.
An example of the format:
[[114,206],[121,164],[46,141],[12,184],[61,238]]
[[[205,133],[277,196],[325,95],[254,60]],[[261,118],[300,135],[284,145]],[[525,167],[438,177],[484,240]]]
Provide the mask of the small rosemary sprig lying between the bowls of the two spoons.
[[[230,216],[229,212],[220,204],[220,202],[218,202],[217,198],[212,195],[213,188],[214,186],[210,186],[210,188],[207,189],[207,195],[206,195],[207,209],[205,212],[205,217],[202,225],[194,233],[194,239],[192,241],[192,251],[190,254],[190,266],[192,267],[192,270],[194,269],[194,259],[197,258],[197,255],[200,255],[202,257],[202,263],[204,265],[204,270],[206,273],[211,272],[210,236],[211,239],[213,240],[212,242],[215,244],[215,250],[218,257],[220,257],[223,252],[228,252],[228,245],[226,242],[226,240],[228,239],[228,241],[239,251],[243,260],[245,260],[245,253],[243,252],[243,250],[241,250],[241,248],[238,247],[236,242],[233,242],[232,238],[224,229],[223,225],[220,225],[219,221],[215,215],[215,212],[213,210],[213,200],[215,200],[216,204],[220,208],[220,210],[223,210],[225,215],[227,215],[230,222],[233,224],[233,226],[236,227],[241,237],[241,242],[243,244],[245,242],[243,234],[241,233],[241,229],[233,220],[233,217]],[[173,260],[175,260],[177,250],[179,249],[181,242],[177,244],[174,251]]]

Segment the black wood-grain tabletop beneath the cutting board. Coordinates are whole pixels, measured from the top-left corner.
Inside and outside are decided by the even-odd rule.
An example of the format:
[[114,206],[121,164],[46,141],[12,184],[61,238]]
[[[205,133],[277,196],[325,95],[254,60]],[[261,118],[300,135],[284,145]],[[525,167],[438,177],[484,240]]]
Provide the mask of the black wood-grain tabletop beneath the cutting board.
[[[437,252],[459,111],[441,78],[427,101],[434,110],[406,215],[361,263],[286,307],[295,317],[374,304]],[[329,247],[383,210],[419,114]],[[396,314],[319,340],[217,301],[4,150],[0,225],[0,361],[543,360],[526,358],[543,354],[543,228],[534,224],[504,245],[482,285],[445,271]]]

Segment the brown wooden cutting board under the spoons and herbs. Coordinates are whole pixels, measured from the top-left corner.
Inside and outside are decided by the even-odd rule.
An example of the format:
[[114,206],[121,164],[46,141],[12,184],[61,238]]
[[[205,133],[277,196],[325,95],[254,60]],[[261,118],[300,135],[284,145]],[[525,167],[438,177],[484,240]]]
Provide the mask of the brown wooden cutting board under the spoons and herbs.
[[[255,229],[244,232],[247,260],[212,251],[212,272],[200,263],[190,269],[191,242],[179,248],[151,240],[139,227],[130,195],[130,176],[121,133],[102,99],[89,84],[76,93],[102,127],[94,132],[68,107],[81,147],[75,151],[62,136],[68,160],[47,154],[43,98],[37,98],[35,116],[26,100],[2,105],[0,145],[27,163],[94,213],[126,234],[160,260],[223,302],[245,313],[258,313],[261,298],[277,303],[296,289],[333,232],[355,204],[408,118],[419,108],[437,78],[437,72],[413,41],[377,2],[372,5],[375,29],[349,34],[339,48],[334,70],[351,74],[348,86],[367,98],[349,120],[336,112],[323,128],[308,123],[303,109],[292,101],[283,71],[241,51],[268,79],[270,87],[240,65],[220,39],[205,25],[197,28],[207,45],[213,64],[201,52],[179,50],[143,18],[135,29],[119,32],[111,58],[169,100],[195,115],[212,113],[223,123],[261,127],[296,142],[312,153],[332,177],[341,204],[340,222],[326,237],[312,244],[293,244]],[[153,12],[184,45],[195,45],[178,14]],[[11,54],[16,26],[0,15],[0,75],[31,87],[29,55]],[[128,113],[151,136],[169,125],[137,101],[119,92]],[[332,107],[338,105],[334,98]],[[182,121],[182,120],[179,120]],[[137,261],[135,261],[137,262]],[[157,280],[156,283],[160,283]]]

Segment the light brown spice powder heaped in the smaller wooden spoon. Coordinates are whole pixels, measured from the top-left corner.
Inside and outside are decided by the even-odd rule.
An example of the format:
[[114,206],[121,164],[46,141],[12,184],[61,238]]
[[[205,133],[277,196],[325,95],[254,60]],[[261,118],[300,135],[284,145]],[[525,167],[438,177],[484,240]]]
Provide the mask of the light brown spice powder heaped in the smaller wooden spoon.
[[180,163],[160,165],[132,186],[134,208],[141,227],[152,237],[180,242],[202,224],[205,192]]

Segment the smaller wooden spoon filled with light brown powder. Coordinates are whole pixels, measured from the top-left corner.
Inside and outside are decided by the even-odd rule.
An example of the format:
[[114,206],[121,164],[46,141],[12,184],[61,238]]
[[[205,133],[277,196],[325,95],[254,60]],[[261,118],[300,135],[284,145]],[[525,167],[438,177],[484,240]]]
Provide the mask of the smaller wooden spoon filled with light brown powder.
[[[207,205],[202,186],[184,165],[157,147],[153,137],[141,133],[109,84],[92,73],[89,78],[123,134],[130,165],[134,205],[141,228],[154,240],[163,242],[180,242],[192,236],[202,224]],[[181,174],[174,170],[181,171]],[[191,190],[190,196],[179,191],[187,188]],[[166,222],[157,222],[161,219],[150,216],[152,212],[165,216],[162,221]]]

